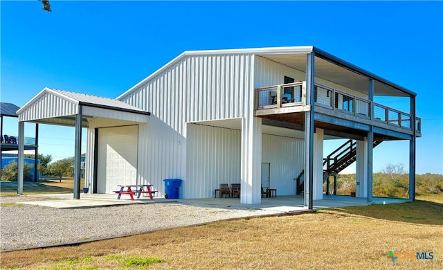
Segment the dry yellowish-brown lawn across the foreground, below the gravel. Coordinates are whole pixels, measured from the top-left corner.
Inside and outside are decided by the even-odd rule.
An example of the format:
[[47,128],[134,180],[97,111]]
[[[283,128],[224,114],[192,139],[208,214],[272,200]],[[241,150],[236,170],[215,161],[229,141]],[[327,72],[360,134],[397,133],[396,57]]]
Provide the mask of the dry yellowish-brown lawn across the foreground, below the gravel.
[[[442,235],[443,204],[415,201],[237,219],[78,246],[3,252],[0,265],[4,269],[443,269]],[[389,251],[433,252],[434,259],[392,263]]]

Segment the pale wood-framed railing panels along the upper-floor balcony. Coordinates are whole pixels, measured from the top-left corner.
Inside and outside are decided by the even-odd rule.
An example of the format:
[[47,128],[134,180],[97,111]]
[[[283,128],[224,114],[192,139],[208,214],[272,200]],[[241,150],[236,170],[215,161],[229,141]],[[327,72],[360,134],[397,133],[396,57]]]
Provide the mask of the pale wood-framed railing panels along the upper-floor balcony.
[[[281,107],[306,105],[306,83],[293,82],[271,87],[255,89],[256,109],[274,109]],[[325,107],[345,114],[353,114],[360,118],[381,121],[389,125],[411,129],[410,114],[386,107],[374,102],[372,116],[372,102],[365,98],[354,96],[322,84],[315,84],[314,102],[316,106]],[[421,119],[415,119],[415,129],[421,132]]]

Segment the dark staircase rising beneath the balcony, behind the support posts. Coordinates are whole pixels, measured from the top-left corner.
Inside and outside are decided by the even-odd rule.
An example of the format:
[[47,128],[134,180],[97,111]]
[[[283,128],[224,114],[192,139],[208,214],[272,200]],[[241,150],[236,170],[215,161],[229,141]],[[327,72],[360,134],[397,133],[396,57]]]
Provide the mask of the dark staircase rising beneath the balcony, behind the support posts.
[[[382,141],[374,141],[373,147],[379,145]],[[355,140],[350,139],[346,143],[343,143],[340,147],[338,147],[334,152],[329,154],[325,159],[323,159],[323,183],[329,178],[331,175],[336,175],[338,172],[345,170],[347,166],[351,165],[356,161],[356,145],[357,142]],[[326,167],[325,167],[326,166]],[[305,170],[302,170],[297,177],[296,183],[296,194],[302,195],[305,190]]]

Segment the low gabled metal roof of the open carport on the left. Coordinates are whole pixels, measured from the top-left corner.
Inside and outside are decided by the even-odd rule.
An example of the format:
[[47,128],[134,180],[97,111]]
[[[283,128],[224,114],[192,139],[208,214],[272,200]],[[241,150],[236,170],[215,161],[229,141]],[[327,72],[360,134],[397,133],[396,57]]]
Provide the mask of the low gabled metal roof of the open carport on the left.
[[40,97],[46,95],[47,93],[52,93],[55,96],[68,100],[69,102],[73,102],[76,105],[87,105],[90,107],[98,107],[103,109],[114,109],[117,111],[128,111],[134,112],[137,114],[147,114],[150,115],[150,112],[144,111],[143,109],[139,109],[132,105],[129,105],[120,100],[115,100],[111,98],[103,98],[99,96],[87,95],[84,93],[75,93],[71,91],[64,91],[60,89],[51,89],[45,88],[40,93],[37,94],[33,99],[29,100],[23,107],[21,107],[17,114],[20,114],[27,107],[33,104],[33,102],[37,101]]

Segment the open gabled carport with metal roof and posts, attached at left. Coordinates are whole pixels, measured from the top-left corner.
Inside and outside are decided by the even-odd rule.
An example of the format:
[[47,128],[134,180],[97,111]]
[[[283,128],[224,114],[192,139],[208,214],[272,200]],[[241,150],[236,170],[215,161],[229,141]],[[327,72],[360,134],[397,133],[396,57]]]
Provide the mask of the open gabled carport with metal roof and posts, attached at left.
[[[64,125],[75,127],[74,199],[80,199],[82,127],[91,129],[91,123],[102,120],[107,121],[107,123],[114,123],[114,126],[111,124],[107,127],[120,129],[121,133],[122,130],[125,130],[124,127],[138,125],[139,123],[149,123],[150,116],[150,112],[143,111],[120,100],[50,88],[45,88],[40,91],[37,96],[21,107],[17,111],[17,114],[19,116],[19,173],[17,193],[19,195],[23,193],[24,123]],[[116,125],[116,123],[118,123],[118,125]],[[132,129],[129,128],[128,130]],[[89,132],[89,134],[91,134],[91,137],[88,137],[88,141],[93,141],[93,145],[98,146],[98,140],[96,138],[98,132]],[[120,136],[124,136],[124,134],[120,134]],[[139,139],[138,137],[136,138],[136,140]],[[98,147],[93,147],[94,152],[97,152],[97,149]],[[93,155],[97,156],[97,153]],[[97,159],[97,157],[95,157],[95,159]],[[96,165],[97,163],[94,164],[94,167],[96,167]],[[96,181],[97,168],[93,168],[92,174],[94,181]]]

